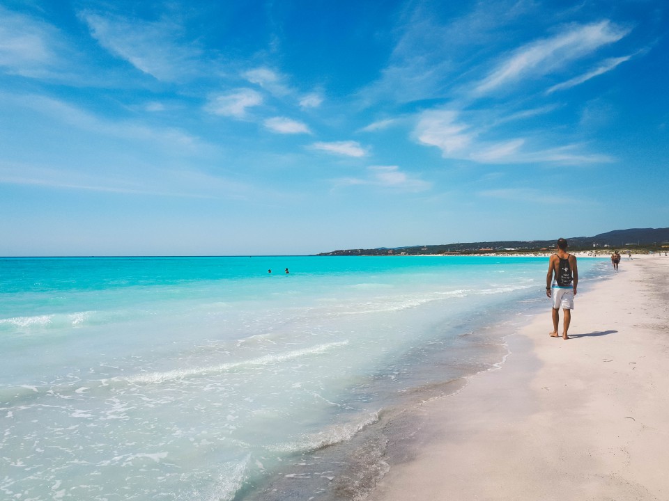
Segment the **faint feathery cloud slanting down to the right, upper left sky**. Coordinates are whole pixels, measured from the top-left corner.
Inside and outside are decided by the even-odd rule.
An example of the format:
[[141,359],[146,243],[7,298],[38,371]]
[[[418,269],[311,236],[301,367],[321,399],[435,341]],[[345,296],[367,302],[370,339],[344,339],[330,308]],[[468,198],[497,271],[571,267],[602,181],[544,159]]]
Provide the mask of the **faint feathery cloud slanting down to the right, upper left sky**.
[[183,29],[174,20],[148,22],[91,10],[79,17],[102,47],[155,79],[179,81],[199,72],[202,51],[183,40]]

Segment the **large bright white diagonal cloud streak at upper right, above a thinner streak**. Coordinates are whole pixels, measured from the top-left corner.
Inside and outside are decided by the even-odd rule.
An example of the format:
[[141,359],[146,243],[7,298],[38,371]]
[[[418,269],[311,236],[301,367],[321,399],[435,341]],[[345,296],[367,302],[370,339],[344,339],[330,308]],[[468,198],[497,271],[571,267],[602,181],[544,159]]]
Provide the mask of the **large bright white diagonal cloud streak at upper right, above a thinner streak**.
[[603,45],[617,42],[627,33],[628,29],[609,21],[571,26],[552,38],[532,42],[514,51],[475,88],[475,92],[485,94],[523,78],[555,72],[572,61],[589,56]]

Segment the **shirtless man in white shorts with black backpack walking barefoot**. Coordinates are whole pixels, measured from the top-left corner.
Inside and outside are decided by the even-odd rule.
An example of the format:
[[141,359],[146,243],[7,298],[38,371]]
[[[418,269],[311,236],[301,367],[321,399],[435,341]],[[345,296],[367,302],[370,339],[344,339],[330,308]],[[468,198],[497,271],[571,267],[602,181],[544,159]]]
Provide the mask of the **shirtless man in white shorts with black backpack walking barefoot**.
[[[569,339],[567,331],[571,323],[571,310],[574,310],[574,296],[576,296],[576,285],[578,285],[578,268],[576,267],[576,256],[567,253],[567,240],[557,240],[557,252],[551,255],[548,261],[548,273],[546,274],[546,296],[553,299],[553,331],[551,337],[559,337],[557,325],[559,324],[560,308],[564,312],[562,318],[562,339]],[[555,276],[555,281],[553,281]]]

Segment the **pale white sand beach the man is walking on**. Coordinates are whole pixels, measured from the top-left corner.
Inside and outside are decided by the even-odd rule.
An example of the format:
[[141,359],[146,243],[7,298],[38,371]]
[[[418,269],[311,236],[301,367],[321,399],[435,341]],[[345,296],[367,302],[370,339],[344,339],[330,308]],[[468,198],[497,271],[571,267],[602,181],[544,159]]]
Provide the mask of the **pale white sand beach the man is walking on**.
[[547,299],[500,369],[418,407],[369,499],[669,500],[669,257],[610,273],[579,288],[570,340]]

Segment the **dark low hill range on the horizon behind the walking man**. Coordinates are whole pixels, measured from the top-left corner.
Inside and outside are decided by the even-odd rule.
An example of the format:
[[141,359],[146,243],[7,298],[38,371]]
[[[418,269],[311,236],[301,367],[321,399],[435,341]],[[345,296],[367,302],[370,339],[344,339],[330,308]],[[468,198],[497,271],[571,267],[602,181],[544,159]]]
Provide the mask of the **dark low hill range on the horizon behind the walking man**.
[[[592,248],[622,248],[630,246],[660,246],[669,245],[669,228],[631,228],[629,230],[613,230],[600,233],[594,237],[570,237],[569,248],[573,250]],[[333,250],[318,255],[424,255],[443,253],[470,253],[470,252],[493,252],[500,250],[541,250],[552,249],[555,246],[553,240],[506,240],[506,241],[480,241],[459,242],[456,244],[439,244],[426,246],[408,247],[378,247],[373,249],[342,249]]]

